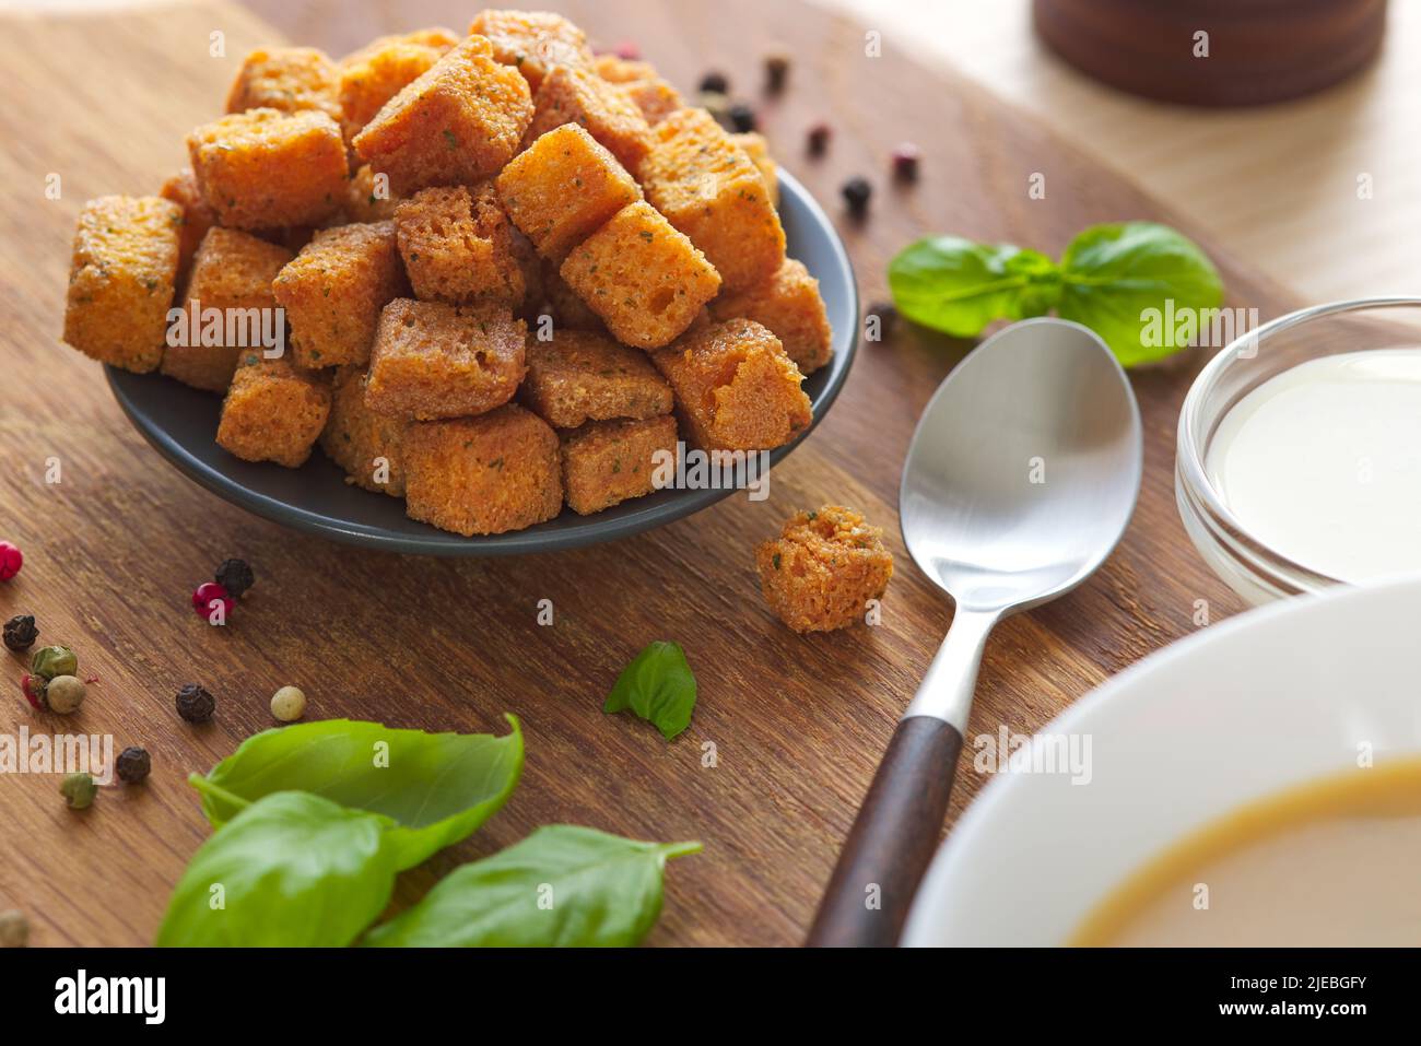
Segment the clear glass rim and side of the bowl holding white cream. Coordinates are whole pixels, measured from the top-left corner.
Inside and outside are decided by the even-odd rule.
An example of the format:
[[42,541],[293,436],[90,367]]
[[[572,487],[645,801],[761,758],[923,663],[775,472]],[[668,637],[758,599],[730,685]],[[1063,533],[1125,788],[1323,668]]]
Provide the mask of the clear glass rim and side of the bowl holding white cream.
[[1421,297],[1334,301],[1289,313],[1225,345],[1179,411],[1174,487],[1179,517],[1205,561],[1252,604],[1346,584],[1290,560],[1249,533],[1205,468],[1225,415],[1269,378],[1339,352],[1421,347]]

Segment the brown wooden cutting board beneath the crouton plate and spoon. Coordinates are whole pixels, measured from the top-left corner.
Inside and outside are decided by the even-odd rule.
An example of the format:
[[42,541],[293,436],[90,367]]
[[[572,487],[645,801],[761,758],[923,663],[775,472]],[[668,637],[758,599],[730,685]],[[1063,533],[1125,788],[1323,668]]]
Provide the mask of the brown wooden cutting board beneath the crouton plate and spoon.
[[[546,3],[600,43],[637,41],[685,91],[722,70],[759,107],[776,156],[834,216],[865,301],[884,297],[892,253],[928,232],[1059,253],[1083,226],[1171,215],[1086,161],[1030,114],[914,65],[861,27],[799,3],[635,0]],[[34,944],[152,939],[168,894],[207,836],[183,783],[271,725],[267,702],[303,686],[311,718],[354,716],[432,730],[502,730],[522,716],[527,769],[475,839],[406,874],[418,898],[462,861],[540,824],[573,821],[644,839],[701,839],[668,875],[655,944],[790,945],[801,939],[875,762],[951,620],[902,549],[898,475],[914,421],[969,345],[914,330],[867,344],[827,421],[774,470],[772,496],[736,496],[618,544],[519,560],[429,560],[331,544],[206,493],[148,449],[99,367],[57,341],[74,217],[90,196],[153,192],[185,162],[183,135],[217,114],[242,55],[283,40],[342,54],[396,30],[462,30],[469,4],[222,3],[80,17],[0,17],[0,537],[26,553],[0,586],[0,618],[31,613],[43,641],[68,642],[91,688],[70,719],[37,716],[6,682],[0,732],[111,733],[153,757],[145,787],[64,807],[53,776],[0,779],[0,910],[20,907]],[[337,13],[338,9],[338,13]],[[223,34],[225,57],[210,54]],[[791,55],[790,88],[759,95],[767,50]],[[834,128],[821,159],[803,151]],[[1069,132],[1069,128],[1066,128]],[[894,186],[899,141],[924,152],[915,186]],[[1033,173],[1046,198],[1027,196]],[[45,196],[47,176],[60,199]],[[838,186],[877,186],[864,223]],[[1204,240],[1205,246],[1209,246]],[[1265,318],[1289,294],[1212,249],[1232,304]],[[1134,375],[1145,429],[1140,509],[1120,550],[1067,598],[1007,621],[983,665],[971,736],[1032,732],[1113,672],[1239,610],[1181,529],[1174,505],[1179,404],[1206,352]],[[51,459],[63,480],[45,483]],[[797,637],[766,610],[752,547],[799,507],[843,503],[887,533],[898,566],[882,624]],[[189,594],[227,556],[256,568],[229,627],[199,620]],[[553,600],[556,624],[539,627]],[[647,723],[605,716],[620,669],[651,640],[684,644],[701,699],[665,743]],[[24,668],[6,654],[11,681]],[[173,694],[202,682],[216,721],[180,722]],[[708,753],[713,746],[715,759]],[[969,749],[971,753],[971,749]],[[988,777],[965,763],[952,819]],[[1088,800],[1088,796],[1084,799]],[[951,824],[951,819],[949,819]]]

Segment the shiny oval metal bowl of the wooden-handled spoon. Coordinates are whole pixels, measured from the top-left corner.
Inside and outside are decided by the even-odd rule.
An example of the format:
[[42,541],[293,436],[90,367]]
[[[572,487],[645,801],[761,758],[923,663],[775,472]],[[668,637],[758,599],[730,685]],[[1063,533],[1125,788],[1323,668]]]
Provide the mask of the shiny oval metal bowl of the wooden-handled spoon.
[[928,401],[898,493],[904,543],[959,608],[1039,605],[1115,547],[1141,453],[1140,409],[1100,338],[1066,320],[1023,320]]

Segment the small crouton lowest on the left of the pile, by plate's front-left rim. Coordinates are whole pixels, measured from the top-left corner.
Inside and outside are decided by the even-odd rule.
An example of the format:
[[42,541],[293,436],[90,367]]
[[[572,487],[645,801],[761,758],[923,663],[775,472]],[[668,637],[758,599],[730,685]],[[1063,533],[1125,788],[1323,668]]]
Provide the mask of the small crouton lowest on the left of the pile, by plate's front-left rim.
[[253,350],[222,401],[217,445],[243,460],[294,469],[311,456],[330,411],[331,389],[318,375]]

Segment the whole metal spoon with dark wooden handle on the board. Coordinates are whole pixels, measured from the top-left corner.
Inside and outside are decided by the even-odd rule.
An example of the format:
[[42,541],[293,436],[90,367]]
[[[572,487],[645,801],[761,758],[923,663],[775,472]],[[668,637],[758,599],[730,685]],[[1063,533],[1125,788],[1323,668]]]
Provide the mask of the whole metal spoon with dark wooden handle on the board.
[[898,507],[908,551],[956,613],[878,765],[810,945],[898,942],[942,830],[988,634],[1106,560],[1134,512],[1141,458],[1130,382],[1080,324],[1013,324],[938,387]]

